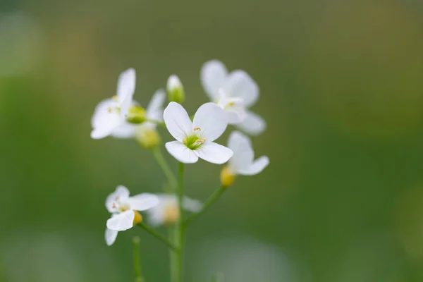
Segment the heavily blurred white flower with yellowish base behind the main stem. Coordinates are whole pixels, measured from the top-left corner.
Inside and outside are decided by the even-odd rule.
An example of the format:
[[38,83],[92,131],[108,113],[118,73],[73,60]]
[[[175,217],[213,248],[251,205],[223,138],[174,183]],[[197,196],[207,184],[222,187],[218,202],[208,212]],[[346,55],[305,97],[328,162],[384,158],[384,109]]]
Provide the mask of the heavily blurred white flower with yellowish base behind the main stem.
[[[153,226],[162,224],[176,223],[179,219],[178,197],[171,194],[159,194],[159,204],[148,210],[149,222]],[[189,197],[183,197],[183,209],[188,212],[200,212],[202,203],[192,200]]]

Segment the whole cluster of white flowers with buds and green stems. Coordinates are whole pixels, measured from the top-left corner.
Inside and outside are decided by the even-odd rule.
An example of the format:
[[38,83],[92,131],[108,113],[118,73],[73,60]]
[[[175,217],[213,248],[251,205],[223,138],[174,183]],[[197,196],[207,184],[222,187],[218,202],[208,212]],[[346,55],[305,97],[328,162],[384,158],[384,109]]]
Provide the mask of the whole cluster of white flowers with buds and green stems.
[[[106,200],[106,208],[111,213],[111,218],[106,222],[106,243],[112,245],[118,231],[138,225],[172,247],[174,252],[180,253],[183,241],[171,242],[156,233],[143,223],[140,212],[147,212],[151,226],[179,226],[175,228],[182,235],[176,238],[183,240],[186,224],[216,201],[233,184],[236,176],[255,175],[269,164],[266,156],[255,159],[248,137],[259,135],[266,129],[264,119],[250,111],[250,107],[259,99],[259,87],[245,71],[228,72],[220,61],[208,61],[202,66],[200,80],[210,102],[202,104],[190,116],[181,105],[186,97],[178,76],[168,78],[166,91],[157,90],[147,108],[133,100],[135,80],[133,68],[119,75],[116,96],[105,99],[95,108],[91,137],[133,138],[142,147],[151,149],[168,178],[168,189],[164,194],[142,193],[130,197],[127,188],[118,186]],[[168,104],[164,109],[166,94]],[[164,147],[180,163],[178,181],[161,155],[158,125],[166,128],[174,138],[166,142]],[[238,130],[229,135],[226,147],[215,141],[223,135],[228,125]],[[198,159],[212,164],[226,164],[221,170],[220,188],[204,204],[183,195],[181,187],[183,164],[193,164]],[[192,214],[184,219],[187,212]]]

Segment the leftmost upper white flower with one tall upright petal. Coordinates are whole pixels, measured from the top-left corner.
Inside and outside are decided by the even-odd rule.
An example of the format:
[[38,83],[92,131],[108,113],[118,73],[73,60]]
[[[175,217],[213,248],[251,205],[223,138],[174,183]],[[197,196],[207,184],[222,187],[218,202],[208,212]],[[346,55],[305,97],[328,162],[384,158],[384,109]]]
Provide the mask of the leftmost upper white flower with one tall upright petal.
[[135,70],[129,68],[119,75],[116,96],[100,102],[95,108],[91,119],[93,139],[102,139],[115,131],[119,135],[119,127],[126,126],[125,117],[133,104],[134,92]]

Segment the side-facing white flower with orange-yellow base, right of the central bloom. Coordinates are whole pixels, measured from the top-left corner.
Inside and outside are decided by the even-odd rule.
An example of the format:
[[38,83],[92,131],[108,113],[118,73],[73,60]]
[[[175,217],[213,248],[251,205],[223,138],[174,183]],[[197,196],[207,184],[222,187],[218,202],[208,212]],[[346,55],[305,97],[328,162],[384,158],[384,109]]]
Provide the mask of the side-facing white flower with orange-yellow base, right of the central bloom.
[[252,176],[269,165],[269,158],[266,156],[254,160],[250,138],[243,133],[233,131],[229,136],[228,147],[233,151],[233,157],[221,171],[221,183],[224,186],[231,185],[238,174]]

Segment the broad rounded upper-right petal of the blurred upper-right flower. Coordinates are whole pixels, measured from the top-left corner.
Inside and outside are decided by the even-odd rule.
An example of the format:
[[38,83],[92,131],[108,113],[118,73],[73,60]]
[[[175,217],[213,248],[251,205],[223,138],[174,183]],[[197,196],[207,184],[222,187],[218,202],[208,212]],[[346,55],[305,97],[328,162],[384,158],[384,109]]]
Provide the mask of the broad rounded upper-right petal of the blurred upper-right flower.
[[259,87],[245,71],[233,71],[223,85],[223,91],[231,97],[244,99],[245,106],[250,107],[259,98]]

